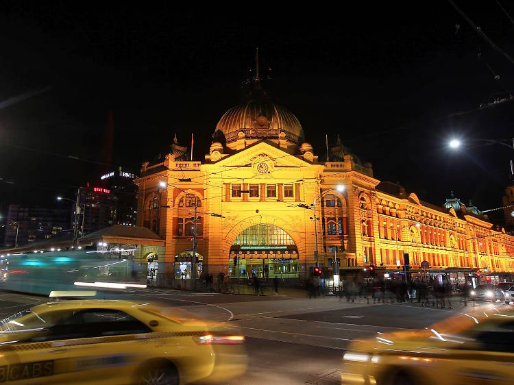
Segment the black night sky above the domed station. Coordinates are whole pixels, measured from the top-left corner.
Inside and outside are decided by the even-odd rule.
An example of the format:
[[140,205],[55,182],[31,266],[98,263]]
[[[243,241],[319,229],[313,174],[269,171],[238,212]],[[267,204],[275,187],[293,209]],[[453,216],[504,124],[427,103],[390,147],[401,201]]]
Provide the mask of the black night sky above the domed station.
[[[514,136],[514,102],[478,108],[514,89],[514,64],[447,1],[203,13],[171,2],[81,4],[1,3],[4,210],[73,197],[114,167],[137,172],[174,132],[183,145],[194,132],[203,159],[217,121],[241,102],[256,46],[272,99],[296,114],[320,159],[324,133],[330,143],[339,134],[378,179],[425,201],[442,204],[454,190],[482,210],[501,206],[514,151],[454,153],[446,143]],[[514,23],[498,3],[457,4],[514,55]]]

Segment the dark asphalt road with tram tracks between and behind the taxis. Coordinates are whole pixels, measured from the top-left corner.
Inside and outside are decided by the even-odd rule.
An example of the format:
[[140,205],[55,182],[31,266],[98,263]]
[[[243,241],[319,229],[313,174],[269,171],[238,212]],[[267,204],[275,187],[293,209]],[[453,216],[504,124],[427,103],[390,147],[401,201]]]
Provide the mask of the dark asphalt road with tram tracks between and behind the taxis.
[[[247,296],[182,293],[146,289],[106,293],[140,303],[182,308],[193,317],[217,321],[228,332],[247,337],[247,373],[230,384],[340,384],[341,354],[355,340],[377,333],[421,329],[459,312],[476,308],[454,303],[453,309],[423,308],[418,303],[367,304],[278,295]],[[0,318],[47,301],[44,297],[0,292]],[[499,305],[497,305],[499,306]]]

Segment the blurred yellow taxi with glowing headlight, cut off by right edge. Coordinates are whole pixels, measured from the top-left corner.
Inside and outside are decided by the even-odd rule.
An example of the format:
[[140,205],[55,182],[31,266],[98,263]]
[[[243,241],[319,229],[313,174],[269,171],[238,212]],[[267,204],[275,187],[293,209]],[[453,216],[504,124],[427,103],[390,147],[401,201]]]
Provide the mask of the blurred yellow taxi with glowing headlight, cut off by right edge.
[[514,384],[514,312],[491,306],[426,330],[377,334],[352,343],[343,353],[341,382]]

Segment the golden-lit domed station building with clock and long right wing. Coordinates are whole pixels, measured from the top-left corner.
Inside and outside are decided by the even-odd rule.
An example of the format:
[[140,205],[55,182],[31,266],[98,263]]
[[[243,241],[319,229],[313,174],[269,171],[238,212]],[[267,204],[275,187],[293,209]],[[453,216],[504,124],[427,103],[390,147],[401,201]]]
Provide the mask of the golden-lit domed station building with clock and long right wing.
[[370,265],[386,277],[402,276],[404,265],[413,277],[452,280],[514,272],[514,236],[476,208],[454,197],[435,206],[380,181],[339,138],[313,149],[258,78],[254,88],[213,124],[204,160],[190,160],[175,136],[164,158],[143,163],[137,225],[164,240],[136,256],[151,277],[191,280],[195,266],[196,277],[293,282],[316,264],[325,275],[369,273]]

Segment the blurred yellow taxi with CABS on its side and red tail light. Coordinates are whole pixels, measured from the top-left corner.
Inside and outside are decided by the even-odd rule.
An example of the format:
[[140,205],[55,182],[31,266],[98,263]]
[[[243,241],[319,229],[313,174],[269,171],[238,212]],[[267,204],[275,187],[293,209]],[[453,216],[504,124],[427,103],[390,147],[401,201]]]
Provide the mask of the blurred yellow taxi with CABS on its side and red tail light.
[[220,382],[246,369],[244,337],[149,303],[44,303],[0,321],[0,384]]

